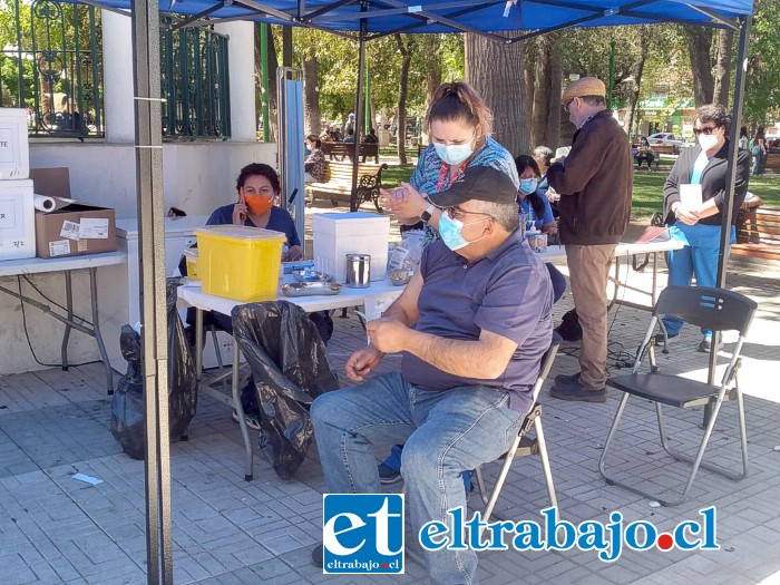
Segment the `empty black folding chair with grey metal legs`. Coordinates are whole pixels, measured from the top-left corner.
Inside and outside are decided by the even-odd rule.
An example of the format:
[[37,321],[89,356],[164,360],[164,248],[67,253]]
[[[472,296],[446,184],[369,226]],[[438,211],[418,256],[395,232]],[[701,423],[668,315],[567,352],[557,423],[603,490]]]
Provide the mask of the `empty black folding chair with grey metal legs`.
[[[667,286],[661,293],[659,301],[653,308],[653,316],[651,318],[650,326],[645,333],[644,340],[640,345],[636,360],[632,373],[628,376],[620,376],[607,380],[607,384],[617,388],[624,392],[623,398],[617,407],[615,419],[610,428],[602,457],[598,461],[598,471],[606,479],[607,484],[621,486],[634,494],[640,494],[651,499],[655,499],[663,506],[676,506],[684,501],[685,496],[691,490],[693,480],[700,467],[704,467],[711,471],[720,474],[732,480],[743,479],[748,476],[748,439],[744,423],[744,403],[742,392],[739,387],[738,371],[741,362],[740,352],[742,344],[748,333],[750,322],[753,319],[758,304],[747,296],[724,289],[705,287],[705,286]],[[675,315],[692,325],[711,329],[713,331],[739,331],[739,340],[734,348],[731,360],[729,361],[723,378],[718,386],[716,382],[709,384],[689,380],[680,376],[667,376],[659,373],[659,365],[655,361],[655,350],[653,348],[653,331],[659,324],[661,315]],[[641,361],[645,353],[650,353],[650,373],[638,373]],[[606,458],[610,447],[612,446],[617,425],[621,421],[623,411],[628,398],[635,396],[641,399],[650,400],[655,406],[655,413],[659,421],[659,433],[661,437],[661,446],[674,459],[691,465],[691,472],[685,482],[682,496],[679,499],[661,499],[657,495],[649,494],[634,486],[618,481],[613,477],[608,477],[605,472]],[[737,401],[737,411],[739,418],[740,446],[742,450],[742,472],[731,471],[722,466],[703,462],[704,450],[706,449],[712,429],[718,420],[721,404],[725,400]],[[705,420],[704,435],[702,437],[695,457],[677,452],[671,449],[664,427],[661,404],[666,404],[675,408],[692,408],[700,406],[709,406],[711,409],[709,418]]]

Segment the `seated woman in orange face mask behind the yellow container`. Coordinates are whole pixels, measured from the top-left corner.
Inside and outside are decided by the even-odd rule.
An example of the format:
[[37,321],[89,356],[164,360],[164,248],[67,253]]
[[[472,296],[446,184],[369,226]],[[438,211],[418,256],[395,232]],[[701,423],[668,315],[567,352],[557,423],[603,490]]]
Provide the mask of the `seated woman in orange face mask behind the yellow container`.
[[282,232],[287,236],[287,252],[282,261],[301,260],[303,248],[290,214],[273,202],[281,191],[279,175],[269,165],[252,163],[241,169],[236,181],[238,203],[217,207],[206,225],[247,225]]

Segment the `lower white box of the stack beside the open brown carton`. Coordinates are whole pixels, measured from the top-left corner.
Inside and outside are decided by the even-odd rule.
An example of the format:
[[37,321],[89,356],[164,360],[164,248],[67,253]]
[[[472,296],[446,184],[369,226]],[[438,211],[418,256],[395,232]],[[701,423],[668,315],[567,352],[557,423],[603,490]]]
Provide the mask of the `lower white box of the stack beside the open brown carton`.
[[36,257],[32,179],[0,181],[0,260]]

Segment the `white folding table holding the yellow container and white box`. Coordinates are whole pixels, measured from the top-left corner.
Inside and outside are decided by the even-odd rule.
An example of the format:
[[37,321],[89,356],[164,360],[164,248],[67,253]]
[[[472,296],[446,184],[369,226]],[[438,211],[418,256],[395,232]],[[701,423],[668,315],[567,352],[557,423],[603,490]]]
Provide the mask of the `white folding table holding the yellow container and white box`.
[[[280,284],[293,282],[291,275],[285,275],[284,281]],[[282,290],[277,291],[277,301],[289,301],[299,305],[308,313],[315,311],[331,311],[333,309],[344,309],[349,306],[361,306],[365,318],[377,319],[382,314],[392,301],[400,296],[403,286],[393,286],[389,279],[374,281],[368,289],[349,289],[344,286],[341,293],[333,296],[312,295],[312,296],[284,296]],[[232,399],[226,397],[218,390],[201,383],[202,379],[202,352],[203,352],[203,311],[216,311],[218,313],[230,315],[233,308],[245,304],[241,301],[223,299],[206,294],[201,290],[199,282],[189,282],[178,287],[178,299],[186,305],[194,306],[196,311],[195,319],[195,368],[198,377],[198,391],[215,398],[216,400],[235,408],[238,412],[238,425],[241,426],[241,435],[244,439],[244,448],[246,450],[246,468],[244,479],[251,481],[253,478],[253,458],[252,458],[252,440],[244,420],[244,409],[241,403],[241,394],[238,389],[240,377],[240,359],[241,352],[238,344],[233,343],[233,370],[231,380]]]

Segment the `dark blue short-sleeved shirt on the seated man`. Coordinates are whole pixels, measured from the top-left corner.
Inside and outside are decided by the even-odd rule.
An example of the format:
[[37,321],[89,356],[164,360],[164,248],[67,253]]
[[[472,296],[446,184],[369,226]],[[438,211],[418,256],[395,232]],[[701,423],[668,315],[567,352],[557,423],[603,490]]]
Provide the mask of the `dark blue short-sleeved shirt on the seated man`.
[[503,388],[510,392],[511,409],[527,412],[542,357],[553,337],[553,285],[544,262],[521,232],[515,231],[501,246],[474,263],[443,242],[432,242],[422,253],[420,273],[425,282],[417,303],[417,331],[476,341],[486,330],[513,340],[517,350],[495,380],[452,376],[411,353],[403,353],[403,377],[430,390]]

